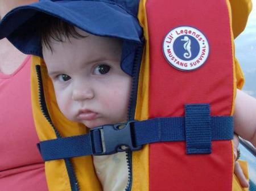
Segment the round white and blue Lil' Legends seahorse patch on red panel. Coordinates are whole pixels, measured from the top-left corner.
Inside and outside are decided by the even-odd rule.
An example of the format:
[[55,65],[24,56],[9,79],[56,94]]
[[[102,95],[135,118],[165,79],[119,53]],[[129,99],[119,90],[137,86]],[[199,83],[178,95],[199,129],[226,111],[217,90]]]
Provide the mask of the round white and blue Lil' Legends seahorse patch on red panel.
[[172,29],[163,41],[166,60],[176,69],[190,71],[202,66],[209,55],[207,38],[188,26]]

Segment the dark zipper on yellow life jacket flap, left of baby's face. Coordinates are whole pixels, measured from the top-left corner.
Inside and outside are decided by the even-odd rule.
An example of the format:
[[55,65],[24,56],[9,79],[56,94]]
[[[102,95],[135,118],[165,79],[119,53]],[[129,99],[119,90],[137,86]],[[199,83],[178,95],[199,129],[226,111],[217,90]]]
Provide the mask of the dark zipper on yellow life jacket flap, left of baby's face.
[[[55,131],[56,137],[61,138],[61,135],[60,135],[59,131],[56,129],[56,127],[53,125],[53,122],[52,122],[51,117],[49,116],[49,113],[47,110],[46,99],[44,97],[44,90],[43,90],[42,74],[41,74],[41,69],[40,69],[39,65],[36,65],[36,75],[38,78],[39,104],[40,104],[41,111],[42,111],[44,117],[46,117],[49,124],[51,124],[53,130]],[[66,165],[67,171],[68,171],[69,182],[71,184],[71,190],[79,191],[80,190],[79,183],[77,181],[75,171],[72,167],[71,160],[64,159],[64,161],[65,161],[65,165]]]

